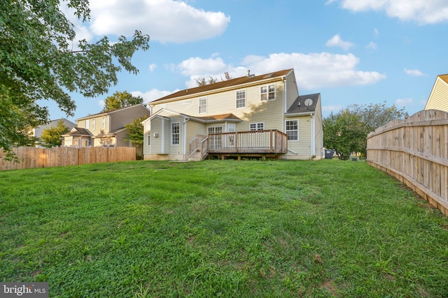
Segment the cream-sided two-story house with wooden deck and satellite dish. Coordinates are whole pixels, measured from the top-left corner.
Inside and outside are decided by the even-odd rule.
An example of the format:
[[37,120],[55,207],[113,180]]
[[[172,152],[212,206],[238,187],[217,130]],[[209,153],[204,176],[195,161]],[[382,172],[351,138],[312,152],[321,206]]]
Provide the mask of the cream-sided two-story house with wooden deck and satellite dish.
[[293,69],[181,90],[150,105],[148,160],[322,157],[321,96],[299,96]]

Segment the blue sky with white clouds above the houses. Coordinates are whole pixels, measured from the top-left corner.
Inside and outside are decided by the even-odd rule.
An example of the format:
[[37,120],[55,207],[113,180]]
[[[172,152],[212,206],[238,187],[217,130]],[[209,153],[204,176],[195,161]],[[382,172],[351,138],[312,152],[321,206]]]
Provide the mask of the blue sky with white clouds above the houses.
[[[77,37],[151,37],[108,94],[71,94],[71,121],[100,112],[129,91],[146,102],[221,79],[294,68],[301,95],[321,93],[323,117],[352,104],[423,110],[437,75],[448,73],[448,0],[92,0],[90,23],[71,17]],[[64,8],[66,15],[70,10]],[[51,119],[66,117],[44,100]]]

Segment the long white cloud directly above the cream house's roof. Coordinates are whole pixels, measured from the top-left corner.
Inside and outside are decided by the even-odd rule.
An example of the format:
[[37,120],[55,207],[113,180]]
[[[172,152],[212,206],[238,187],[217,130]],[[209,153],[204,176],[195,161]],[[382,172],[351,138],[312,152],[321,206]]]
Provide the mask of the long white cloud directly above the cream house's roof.
[[243,59],[241,66],[225,64],[220,57],[201,59],[199,57],[182,61],[176,66],[183,75],[190,76],[188,87],[195,87],[198,77],[217,77],[221,79],[225,72],[231,77],[246,75],[247,70],[255,75],[275,70],[294,68],[300,89],[318,89],[324,87],[342,87],[374,84],[384,80],[386,75],[376,71],[357,70],[359,59],[353,54],[322,53],[277,53],[269,57],[249,56]]

